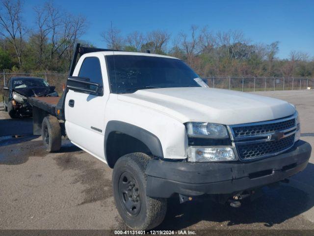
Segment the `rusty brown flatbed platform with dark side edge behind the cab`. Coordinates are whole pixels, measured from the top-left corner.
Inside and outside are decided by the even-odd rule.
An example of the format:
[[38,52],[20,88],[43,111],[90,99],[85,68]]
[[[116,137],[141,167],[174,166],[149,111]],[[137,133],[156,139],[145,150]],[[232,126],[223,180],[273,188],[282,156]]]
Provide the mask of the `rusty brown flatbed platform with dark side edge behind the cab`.
[[27,102],[55,116],[55,107],[60,97],[28,97]]

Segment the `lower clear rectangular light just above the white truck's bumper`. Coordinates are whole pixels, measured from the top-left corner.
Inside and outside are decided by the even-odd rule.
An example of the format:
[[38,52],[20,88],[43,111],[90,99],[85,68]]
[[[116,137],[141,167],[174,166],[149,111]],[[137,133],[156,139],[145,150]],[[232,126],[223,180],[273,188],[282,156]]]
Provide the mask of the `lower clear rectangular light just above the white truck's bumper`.
[[233,147],[195,147],[187,148],[187,160],[190,162],[234,161]]

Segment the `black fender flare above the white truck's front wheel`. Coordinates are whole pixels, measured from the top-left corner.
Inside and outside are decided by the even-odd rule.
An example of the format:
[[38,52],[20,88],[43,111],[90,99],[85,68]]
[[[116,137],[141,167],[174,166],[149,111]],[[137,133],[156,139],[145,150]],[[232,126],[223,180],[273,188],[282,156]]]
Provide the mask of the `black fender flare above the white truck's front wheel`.
[[106,145],[107,145],[107,139],[110,133],[112,132],[120,132],[123,134],[130,135],[133,138],[138,139],[139,141],[143,142],[152,152],[154,156],[158,156],[163,158],[163,151],[161,147],[161,143],[157,136],[146,129],[143,129],[141,127],[138,127],[136,125],[126,123],[123,121],[118,120],[110,120],[105,129],[105,142],[104,142],[104,150],[105,150],[105,157],[107,160],[107,153],[106,153]]

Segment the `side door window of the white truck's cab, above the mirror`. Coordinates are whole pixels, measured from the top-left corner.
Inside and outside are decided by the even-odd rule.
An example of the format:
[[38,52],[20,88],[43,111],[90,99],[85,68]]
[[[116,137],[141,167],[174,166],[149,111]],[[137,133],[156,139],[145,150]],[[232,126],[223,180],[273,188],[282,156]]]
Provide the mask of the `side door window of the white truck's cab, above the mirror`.
[[99,59],[96,57],[85,58],[80,67],[78,76],[86,77],[89,79],[89,82],[103,86],[103,76]]

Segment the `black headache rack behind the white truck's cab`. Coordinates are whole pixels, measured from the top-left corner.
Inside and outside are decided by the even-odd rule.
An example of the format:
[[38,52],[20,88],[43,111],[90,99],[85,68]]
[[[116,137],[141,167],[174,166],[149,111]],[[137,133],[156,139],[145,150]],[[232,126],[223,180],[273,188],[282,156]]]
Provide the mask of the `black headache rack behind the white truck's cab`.
[[[95,52],[121,52],[120,50],[112,50],[112,49],[104,49],[104,48],[89,48],[89,47],[81,47],[79,43],[75,46],[74,55],[71,61],[70,70],[69,70],[69,77],[73,75],[75,66],[77,64],[78,57],[81,57],[82,55],[86,53],[95,53]],[[64,116],[64,102],[65,102],[65,95],[67,94],[68,89],[67,86],[65,87],[65,90],[63,91],[59,102],[57,103],[55,107],[55,116],[58,119],[65,120]]]

